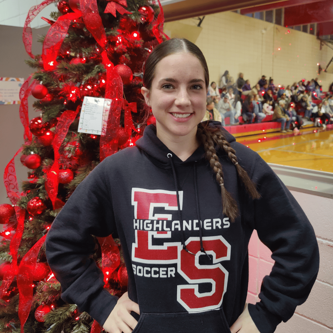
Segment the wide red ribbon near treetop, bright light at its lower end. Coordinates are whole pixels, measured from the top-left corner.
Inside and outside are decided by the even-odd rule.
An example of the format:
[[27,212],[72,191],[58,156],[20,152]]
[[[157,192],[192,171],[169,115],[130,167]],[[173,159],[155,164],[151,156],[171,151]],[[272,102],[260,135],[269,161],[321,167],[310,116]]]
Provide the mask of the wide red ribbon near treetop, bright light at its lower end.
[[69,26],[72,20],[79,17],[81,17],[80,11],[62,15],[50,27],[44,39],[42,52],[43,66],[46,71],[56,68],[56,58],[67,35]]

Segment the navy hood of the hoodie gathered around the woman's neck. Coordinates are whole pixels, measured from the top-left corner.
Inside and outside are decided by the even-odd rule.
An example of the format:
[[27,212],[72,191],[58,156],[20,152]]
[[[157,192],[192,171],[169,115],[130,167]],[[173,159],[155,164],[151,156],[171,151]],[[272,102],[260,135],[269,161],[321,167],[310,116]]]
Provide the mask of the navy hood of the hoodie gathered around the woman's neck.
[[[220,122],[216,121],[206,121],[210,127],[219,127],[223,131],[225,139],[231,143],[236,141],[236,139],[227,132],[221,125]],[[173,163],[175,166],[185,166],[193,162],[197,162],[204,158],[204,148],[199,146],[194,153],[186,160],[181,161],[172,151],[170,151],[166,145],[156,136],[156,126],[149,125],[144,130],[144,135],[136,142],[136,146],[142,149],[152,160],[152,162],[162,168],[170,168],[170,159],[167,157],[167,154],[172,154]]]

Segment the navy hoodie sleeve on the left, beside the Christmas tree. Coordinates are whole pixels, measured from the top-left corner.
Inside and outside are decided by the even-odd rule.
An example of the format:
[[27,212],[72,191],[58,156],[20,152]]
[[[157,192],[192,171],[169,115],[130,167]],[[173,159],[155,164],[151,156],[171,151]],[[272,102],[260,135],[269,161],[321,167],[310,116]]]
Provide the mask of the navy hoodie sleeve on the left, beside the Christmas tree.
[[106,160],[79,184],[46,237],[47,261],[61,284],[61,298],[77,304],[80,311],[88,312],[101,325],[118,299],[104,289],[103,273],[92,259],[92,235],[105,237],[116,231],[104,177]]

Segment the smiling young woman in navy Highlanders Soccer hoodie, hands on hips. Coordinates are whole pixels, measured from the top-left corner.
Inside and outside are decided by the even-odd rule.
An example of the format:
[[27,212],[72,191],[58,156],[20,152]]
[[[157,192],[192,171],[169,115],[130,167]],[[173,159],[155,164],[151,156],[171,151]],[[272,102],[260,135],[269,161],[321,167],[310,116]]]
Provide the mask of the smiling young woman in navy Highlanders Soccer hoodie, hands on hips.
[[[315,281],[316,237],[293,196],[220,123],[200,123],[208,83],[194,44],[157,46],[142,88],[156,127],[100,163],[48,232],[47,258],[62,298],[107,332],[272,333]],[[253,229],[276,263],[261,301],[247,305]],[[110,234],[121,240],[129,276],[119,299],[103,288],[92,259],[92,235]]]

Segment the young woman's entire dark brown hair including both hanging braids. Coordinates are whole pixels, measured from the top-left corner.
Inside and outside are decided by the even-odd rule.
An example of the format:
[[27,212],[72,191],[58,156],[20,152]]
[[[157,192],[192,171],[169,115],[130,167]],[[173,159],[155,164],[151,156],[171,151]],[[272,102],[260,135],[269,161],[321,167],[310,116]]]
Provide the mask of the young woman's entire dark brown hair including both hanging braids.
[[[188,52],[199,59],[204,71],[206,88],[208,87],[209,74],[206,60],[200,49],[195,44],[184,38],[172,38],[161,43],[152,51],[144,66],[144,87],[151,89],[156,65],[166,56],[178,52]],[[226,71],[226,73],[228,72]],[[227,154],[230,161],[235,165],[237,174],[245,185],[246,192],[249,193],[252,199],[259,199],[260,194],[256,189],[255,183],[250,179],[246,171],[239,165],[235,155],[235,150],[227,142],[219,127],[208,126],[208,123],[199,123],[196,136],[198,142],[204,146],[206,159],[216,175],[217,183],[221,187],[223,214],[228,216],[231,222],[234,222],[235,218],[239,214],[238,207],[236,200],[224,187],[222,165],[216,155],[215,146],[220,147]]]

